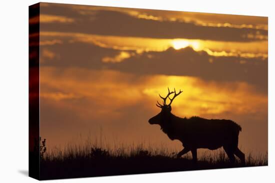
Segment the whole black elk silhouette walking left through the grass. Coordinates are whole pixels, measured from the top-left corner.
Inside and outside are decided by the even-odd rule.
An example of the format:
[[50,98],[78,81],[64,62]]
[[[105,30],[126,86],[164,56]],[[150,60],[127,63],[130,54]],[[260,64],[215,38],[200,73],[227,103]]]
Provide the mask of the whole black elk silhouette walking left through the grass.
[[[241,127],[231,120],[203,119],[200,117],[180,118],[171,113],[171,103],[182,91],[170,92],[163,100],[162,105],[157,101],[156,106],[161,108],[160,113],[149,119],[149,124],[160,125],[161,130],[171,140],[179,140],[183,150],[177,154],[177,158],[191,151],[194,162],[197,162],[197,149],[205,148],[215,150],[223,147],[231,163],[235,161],[236,155],[242,164],[245,164],[244,154],[238,149],[238,134]],[[173,97],[169,96],[173,94]],[[169,98],[169,104],[166,99]]]

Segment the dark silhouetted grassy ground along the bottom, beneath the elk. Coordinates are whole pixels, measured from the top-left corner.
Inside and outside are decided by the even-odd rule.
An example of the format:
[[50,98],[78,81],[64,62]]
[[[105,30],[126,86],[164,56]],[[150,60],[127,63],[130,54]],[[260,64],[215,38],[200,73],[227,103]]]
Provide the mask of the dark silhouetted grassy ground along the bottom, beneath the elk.
[[[222,149],[198,156],[194,164],[190,154],[176,159],[176,152],[165,147],[150,148],[143,144],[123,145],[110,148],[101,143],[67,145],[54,148],[40,159],[40,179],[67,179],[127,174],[146,174],[190,170],[222,169],[235,167],[267,166],[267,153],[253,158],[246,155],[245,166],[237,160],[229,163]],[[40,152],[41,153],[41,152]]]

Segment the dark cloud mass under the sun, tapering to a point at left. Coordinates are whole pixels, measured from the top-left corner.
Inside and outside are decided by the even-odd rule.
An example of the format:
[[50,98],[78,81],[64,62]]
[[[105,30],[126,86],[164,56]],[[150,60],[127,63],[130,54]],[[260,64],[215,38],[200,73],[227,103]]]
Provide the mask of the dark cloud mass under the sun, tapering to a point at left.
[[214,57],[190,47],[146,52],[107,68],[137,74],[195,76],[204,80],[244,81],[267,91],[267,59]]

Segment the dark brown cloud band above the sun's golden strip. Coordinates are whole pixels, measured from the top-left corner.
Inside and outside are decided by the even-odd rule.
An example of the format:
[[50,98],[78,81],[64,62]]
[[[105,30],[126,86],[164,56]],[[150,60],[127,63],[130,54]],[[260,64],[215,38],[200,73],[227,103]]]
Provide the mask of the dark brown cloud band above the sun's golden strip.
[[219,41],[254,41],[258,40],[260,35],[267,36],[267,30],[260,29],[198,26],[193,23],[178,21],[141,19],[123,12],[111,10],[90,10],[90,12],[94,13],[82,15],[66,4],[42,6],[40,10],[41,14],[73,17],[75,21],[72,23],[41,23],[40,30]]

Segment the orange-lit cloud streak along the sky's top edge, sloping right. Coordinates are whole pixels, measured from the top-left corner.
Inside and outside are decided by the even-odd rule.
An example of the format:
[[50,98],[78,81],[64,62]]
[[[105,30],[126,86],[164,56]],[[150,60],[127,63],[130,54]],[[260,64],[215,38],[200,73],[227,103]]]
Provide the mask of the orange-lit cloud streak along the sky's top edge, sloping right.
[[123,12],[125,14],[158,21],[179,21],[186,23],[194,23],[201,26],[216,27],[234,27],[234,28],[254,28],[267,30],[267,17],[261,16],[245,16],[217,13],[201,13],[186,11],[169,11],[155,9],[137,9],[137,8],[119,8],[107,6],[91,6],[91,5],[69,5],[69,8],[77,10],[80,14],[91,15],[99,10],[109,10]]

